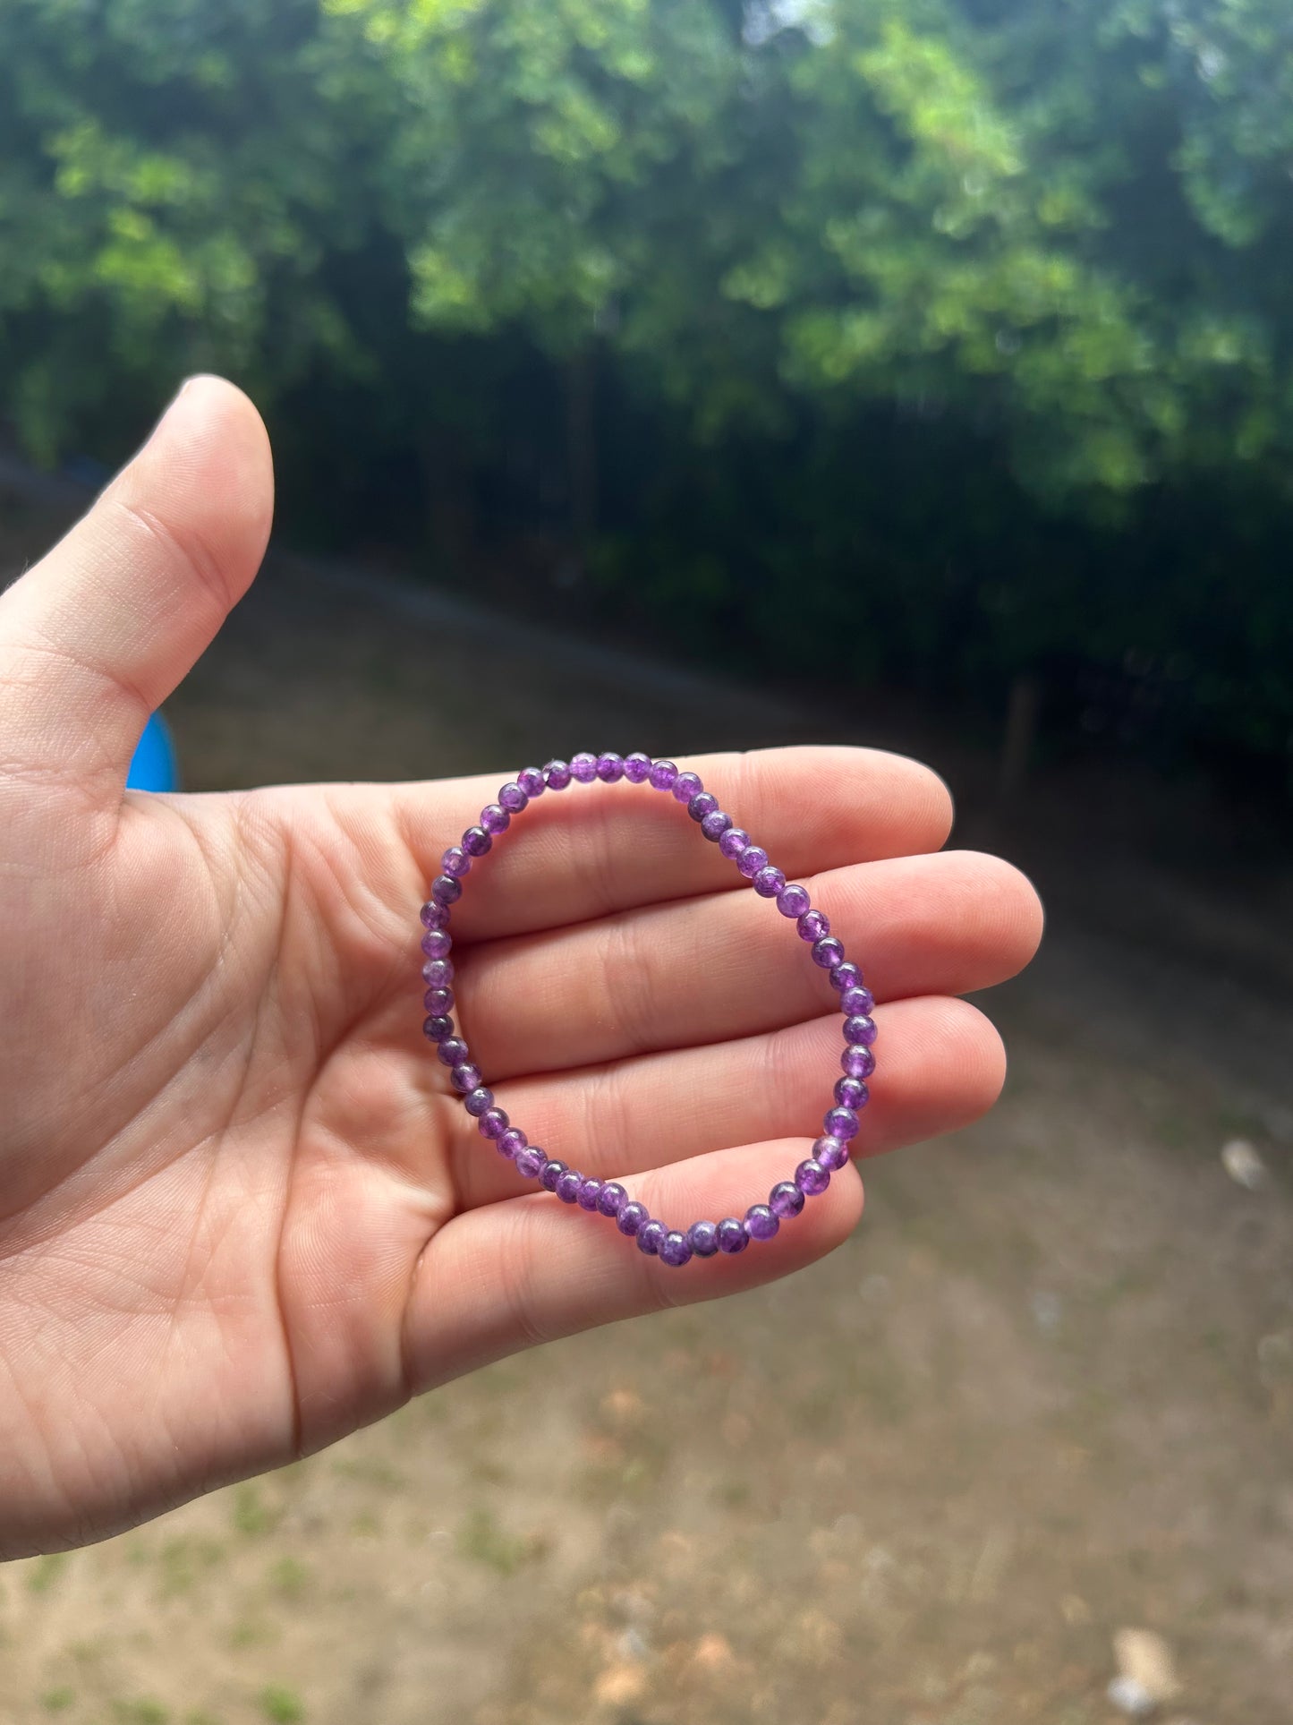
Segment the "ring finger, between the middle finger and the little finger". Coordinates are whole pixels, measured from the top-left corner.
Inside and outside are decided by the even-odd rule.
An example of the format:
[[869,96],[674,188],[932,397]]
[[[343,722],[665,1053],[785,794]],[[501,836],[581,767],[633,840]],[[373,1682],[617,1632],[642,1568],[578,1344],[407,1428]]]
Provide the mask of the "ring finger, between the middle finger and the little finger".
[[[876,1009],[876,1023],[878,1075],[853,1140],[855,1156],[957,1132],[986,1114],[1000,1095],[1002,1038],[967,1000],[895,1000]],[[586,1175],[610,1180],[722,1144],[815,1138],[822,1114],[834,1106],[840,1051],[840,1018],[819,1018],[715,1049],[517,1078],[495,1094],[533,1144]],[[528,1190],[465,1109],[450,1106],[460,1201],[490,1204]]]

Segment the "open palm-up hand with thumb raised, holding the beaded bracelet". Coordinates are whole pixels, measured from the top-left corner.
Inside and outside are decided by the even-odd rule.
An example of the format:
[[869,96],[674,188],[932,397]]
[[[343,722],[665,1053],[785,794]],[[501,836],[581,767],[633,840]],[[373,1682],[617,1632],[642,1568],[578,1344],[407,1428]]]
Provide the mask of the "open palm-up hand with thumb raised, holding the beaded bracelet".
[[[478,1135],[421,1037],[417,907],[502,771],[124,792],[148,712],[252,581],[271,493],[255,411],[195,380],[0,599],[5,1556],[100,1539],[534,1342],[784,1275],[862,1209],[846,1168],[774,1242],[671,1271]],[[983,1113],[1002,1049],[952,995],[1028,961],[1028,883],[931,854],[948,797],[910,761],[695,766],[883,1000],[859,1149]],[[683,1226],[762,1201],[838,1071],[824,978],[736,887],[672,799],[571,787],[455,916],[460,1023],[500,1104]]]

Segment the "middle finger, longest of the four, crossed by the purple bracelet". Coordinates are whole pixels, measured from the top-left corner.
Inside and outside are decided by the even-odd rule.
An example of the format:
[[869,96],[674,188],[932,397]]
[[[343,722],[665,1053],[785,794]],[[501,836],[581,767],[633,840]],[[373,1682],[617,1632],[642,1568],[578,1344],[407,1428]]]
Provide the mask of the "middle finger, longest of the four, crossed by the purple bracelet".
[[[976,852],[834,869],[809,890],[879,999],[991,987],[1041,935],[1029,881]],[[748,1037],[838,1002],[795,926],[753,892],[491,942],[462,956],[453,990],[491,1080]]]

